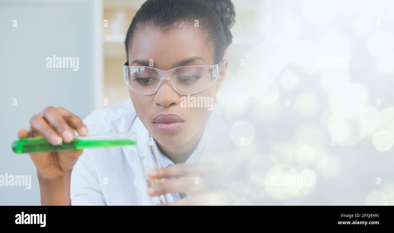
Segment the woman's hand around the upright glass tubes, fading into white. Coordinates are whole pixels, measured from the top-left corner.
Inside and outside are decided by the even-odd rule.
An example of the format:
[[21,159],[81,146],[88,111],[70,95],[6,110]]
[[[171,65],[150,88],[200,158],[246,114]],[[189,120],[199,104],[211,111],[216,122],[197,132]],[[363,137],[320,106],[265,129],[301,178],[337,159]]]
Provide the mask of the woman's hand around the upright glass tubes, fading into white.
[[174,203],[164,205],[222,205],[223,200],[219,198],[220,192],[214,190],[215,168],[213,164],[176,164],[166,168],[156,168],[147,172],[151,179],[165,179],[148,189],[149,196],[159,196],[167,193],[183,192],[191,198],[183,198]]

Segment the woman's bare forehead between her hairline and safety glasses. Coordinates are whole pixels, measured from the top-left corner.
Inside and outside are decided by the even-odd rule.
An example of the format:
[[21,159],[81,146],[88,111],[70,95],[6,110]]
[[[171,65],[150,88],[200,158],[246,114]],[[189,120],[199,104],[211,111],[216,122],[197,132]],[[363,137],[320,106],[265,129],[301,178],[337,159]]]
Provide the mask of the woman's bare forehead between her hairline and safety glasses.
[[212,65],[214,61],[212,46],[194,26],[167,31],[151,26],[140,27],[134,32],[128,51],[129,62],[153,59],[154,67],[161,70],[174,68],[174,64],[188,57],[204,59],[196,65]]

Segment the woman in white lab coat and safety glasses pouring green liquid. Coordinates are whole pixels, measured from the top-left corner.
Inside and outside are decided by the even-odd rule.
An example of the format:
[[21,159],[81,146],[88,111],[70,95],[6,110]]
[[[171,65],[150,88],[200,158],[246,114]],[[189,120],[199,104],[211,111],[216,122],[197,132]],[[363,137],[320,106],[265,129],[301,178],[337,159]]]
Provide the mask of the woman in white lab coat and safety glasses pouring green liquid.
[[[162,168],[148,176],[170,179],[144,189],[130,146],[30,154],[41,205],[145,205],[149,196],[167,193],[173,194],[173,204],[208,204],[202,202],[199,178],[211,174],[212,167],[197,162],[207,139],[226,125],[217,106],[213,111],[185,107],[182,97],[216,97],[226,78],[223,56],[234,17],[230,0],[147,0],[125,39],[123,69],[131,101],[95,111],[84,122],[62,107],[47,107],[18,136],[42,135],[57,145],[59,138],[72,141],[74,130],[79,135],[136,131],[139,144],[152,137],[158,147]],[[193,193],[201,195],[181,198]]]

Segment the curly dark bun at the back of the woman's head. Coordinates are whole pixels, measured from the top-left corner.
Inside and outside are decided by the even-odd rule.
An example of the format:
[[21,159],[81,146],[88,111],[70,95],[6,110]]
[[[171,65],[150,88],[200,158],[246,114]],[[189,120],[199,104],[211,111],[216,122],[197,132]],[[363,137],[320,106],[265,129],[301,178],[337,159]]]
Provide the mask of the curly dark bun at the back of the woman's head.
[[232,42],[232,34],[230,28],[235,23],[235,11],[234,5],[230,0],[203,0],[209,6],[211,6],[217,15],[219,16],[220,22],[223,25],[224,34],[226,36],[226,46],[229,46]]

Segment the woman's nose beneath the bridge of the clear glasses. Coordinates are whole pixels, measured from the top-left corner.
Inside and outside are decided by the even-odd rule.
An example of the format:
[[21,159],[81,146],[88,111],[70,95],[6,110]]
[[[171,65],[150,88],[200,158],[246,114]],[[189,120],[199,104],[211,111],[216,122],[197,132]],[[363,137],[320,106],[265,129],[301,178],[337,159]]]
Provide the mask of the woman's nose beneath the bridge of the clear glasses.
[[157,106],[171,107],[180,104],[180,96],[173,89],[169,80],[163,80],[163,83],[154,95],[154,103]]

